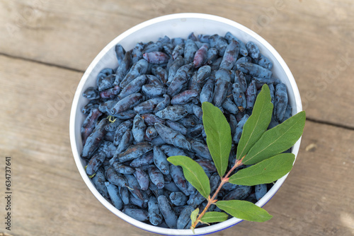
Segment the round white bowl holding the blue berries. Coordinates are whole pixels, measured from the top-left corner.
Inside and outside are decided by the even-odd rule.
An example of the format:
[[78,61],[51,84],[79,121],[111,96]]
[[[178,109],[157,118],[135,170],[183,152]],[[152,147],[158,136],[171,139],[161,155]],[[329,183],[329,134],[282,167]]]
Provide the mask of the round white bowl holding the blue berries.
[[[74,159],[79,169],[81,177],[84,179],[87,187],[91,190],[94,196],[100,201],[103,206],[108,208],[116,216],[122,218],[122,220],[127,221],[137,228],[147,230],[149,232],[155,232],[162,235],[204,235],[212,232],[217,232],[219,230],[224,230],[232,225],[241,222],[238,218],[231,218],[222,223],[217,223],[216,225],[207,226],[204,228],[195,229],[195,234],[192,230],[173,230],[167,228],[159,228],[154,225],[149,225],[147,223],[142,223],[134,218],[130,218],[125,215],[113,205],[111,205],[107,200],[101,196],[93,185],[91,179],[86,175],[84,169],[84,161],[80,158],[80,153],[82,151],[82,141],[81,141],[81,124],[84,122],[85,115],[81,113],[81,108],[86,105],[88,100],[82,96],[82,93],[89,86],[96,85],[96,76],[98,72],[103,68],[116,68],[118,66],[118,61],[115,57],[115,45],[118,43],[122,45],[125,49],[129,50],[135,47],[137,42],[149,42],[156,41],[159,37],[164,37],[167,35],[170,38],[173,37],[183,37],[187,38],[190,33],[194,32],[195,35],[205,34],[205,35],[225,35],[227,32],[232,33],[239,40],[243,42],[253,41],[258,45],[262,54],[268,57],[270,61],[273,61],[273,75],[279,78],[282,83],[287,85],[287,91],[289,95],[290,105],[292,106],[292,114],[297,114],[297,112],[302,111],[302,103],[299,95],[299,90],[295,83],[295,79],[290,72],[290,69],[285,64],[285,61],[280,57],[277,51],[266,42],[261,36],[254,33],[249,28],[244,27],[232,20],[222,18],[219,16],[212,16],[201,13],[178,13],[168,16],[161,16],[154,18],[152,20],[147,20],[144,23],[140,23],[130,30],[125,31],[118,37],[116,37],[112,42],[110,42],[105,48],[97,55],[95,59],[91,62],[90,66],[82,76],[81,81],[76,89],[74,100],[72,103],[72,112],[70,115],[70,141],[72,143],[72,152]],[[299,151],[300,140],[295,143],[292,148],[292,153],[297,155]],[[263,198],[256,203],[257,206],[264,206],[269,199],[274,196],[276,191],[280,188],[282,183],[285,181],[287,175],[279,179],[274,186],[268,191]]]

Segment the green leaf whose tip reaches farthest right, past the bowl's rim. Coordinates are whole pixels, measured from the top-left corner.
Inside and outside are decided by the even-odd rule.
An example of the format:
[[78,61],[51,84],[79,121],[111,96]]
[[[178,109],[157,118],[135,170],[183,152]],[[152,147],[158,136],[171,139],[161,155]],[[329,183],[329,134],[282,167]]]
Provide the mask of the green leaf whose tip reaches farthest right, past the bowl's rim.
[[305,112],[299,112],[282,124],[265,131],[247,153],[243,163],[245,165],[259,163],[291,148],[302,136],[305,120]]

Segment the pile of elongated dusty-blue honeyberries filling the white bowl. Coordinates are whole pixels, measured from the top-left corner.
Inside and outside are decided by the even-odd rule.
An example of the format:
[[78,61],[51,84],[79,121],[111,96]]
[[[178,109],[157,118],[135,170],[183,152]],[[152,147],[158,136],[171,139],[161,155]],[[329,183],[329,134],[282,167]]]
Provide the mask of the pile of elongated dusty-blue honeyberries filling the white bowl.
[[[190,213],[207,201],[181,167],[166,158],[193,158],[210,177],[211,194],[219,185],[206,145],[202,102],[212,102],[227,117],[231,167],[261,86],[268,84],[274,105],[269,129],[291,116],[287,88],[272,76],[273,64],[256,44],[244,44],[231,33],[165,36],[139,42],[127,52],[116,45],[115,52],[118,67],[103,69],[96,87],[83,94],[89,100],[81,127],[86,173],[98,192],[127,216],[162,228],[190,228]],[[255,203],[271,186],[227,183],[217,199]],[[215,205],[209,210],[220,211]]]

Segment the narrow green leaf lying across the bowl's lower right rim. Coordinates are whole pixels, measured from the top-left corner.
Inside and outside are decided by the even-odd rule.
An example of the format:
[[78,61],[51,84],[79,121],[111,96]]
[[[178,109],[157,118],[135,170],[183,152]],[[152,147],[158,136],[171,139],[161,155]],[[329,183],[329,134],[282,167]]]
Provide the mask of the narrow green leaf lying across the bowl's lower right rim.
[[241,200],[229,200],[229,201],[217,201],[215,203],[218,208],[226,211],[231,216],[242,220],[264,222],[270,220],[273,216],[270,216],[267,211],[249,201]]

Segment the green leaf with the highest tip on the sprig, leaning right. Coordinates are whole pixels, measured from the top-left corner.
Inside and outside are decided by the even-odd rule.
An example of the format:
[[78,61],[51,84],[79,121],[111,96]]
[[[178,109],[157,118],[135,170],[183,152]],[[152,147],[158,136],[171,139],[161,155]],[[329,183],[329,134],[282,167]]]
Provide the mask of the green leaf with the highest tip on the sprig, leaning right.
[[272,119],[272,113],[273,103],[271,102],[270,90],[268,85],[265,84],[256,98],[251,117],[244,124],[239,145],[237,146],[237,160],[243,158],[267,130],[270,119]]

